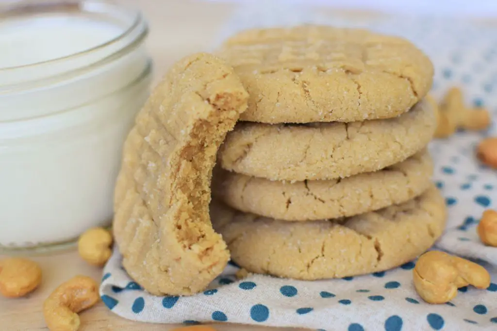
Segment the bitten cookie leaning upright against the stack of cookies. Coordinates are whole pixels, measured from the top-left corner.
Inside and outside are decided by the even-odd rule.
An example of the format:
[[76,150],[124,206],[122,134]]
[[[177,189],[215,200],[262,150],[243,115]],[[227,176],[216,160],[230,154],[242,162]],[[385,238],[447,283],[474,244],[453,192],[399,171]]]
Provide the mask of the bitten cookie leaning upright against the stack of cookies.
[[129,275],[155,295],[189,295],[223,271],[229,252],[209,218],[212,168],[247,108],[233,68],[209,54],[176,63],[126,139],[113,231]]

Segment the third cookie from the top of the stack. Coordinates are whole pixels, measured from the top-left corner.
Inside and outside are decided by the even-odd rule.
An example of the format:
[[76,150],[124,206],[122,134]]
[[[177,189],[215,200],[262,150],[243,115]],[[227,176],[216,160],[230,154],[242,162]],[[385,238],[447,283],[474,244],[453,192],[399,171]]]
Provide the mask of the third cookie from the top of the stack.
[[431,185],[427,151],[376,172],[344,179],[281,182],[216,169],[213,195],[227,205],[289,221],[353,216],[413,199]]

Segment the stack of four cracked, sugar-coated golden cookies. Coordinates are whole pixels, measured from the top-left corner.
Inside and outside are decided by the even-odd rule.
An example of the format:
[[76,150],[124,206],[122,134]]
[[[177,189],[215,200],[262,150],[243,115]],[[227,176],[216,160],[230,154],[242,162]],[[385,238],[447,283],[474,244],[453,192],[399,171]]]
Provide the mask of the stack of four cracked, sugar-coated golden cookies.
[[218,152],[211,205],[238,265],[352,276],[406,263],[441,235],[426,149],[433,67],[414,45],[300,26],[239,33],[218,55],[249,94]]

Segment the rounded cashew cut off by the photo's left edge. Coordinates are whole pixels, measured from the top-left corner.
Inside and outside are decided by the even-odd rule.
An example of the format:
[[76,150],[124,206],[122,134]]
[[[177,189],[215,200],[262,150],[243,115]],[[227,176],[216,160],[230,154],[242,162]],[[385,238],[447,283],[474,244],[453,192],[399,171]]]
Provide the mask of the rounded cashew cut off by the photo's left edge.
[[0,261],[0,293],[7,298],[28,294],[41,283],[41,268],[31,260],[8,258]]

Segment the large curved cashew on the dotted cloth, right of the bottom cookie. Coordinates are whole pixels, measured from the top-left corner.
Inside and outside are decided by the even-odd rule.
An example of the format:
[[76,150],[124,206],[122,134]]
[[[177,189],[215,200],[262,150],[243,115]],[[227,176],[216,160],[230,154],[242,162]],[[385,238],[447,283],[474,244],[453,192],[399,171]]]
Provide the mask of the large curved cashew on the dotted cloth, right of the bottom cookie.
[[430,251],[417,260],[413,280],[416,292],[424,301],[445,303],[457,295],[459,287],[489,287],[490,274],[483,266],[471,261],[444,252]]

